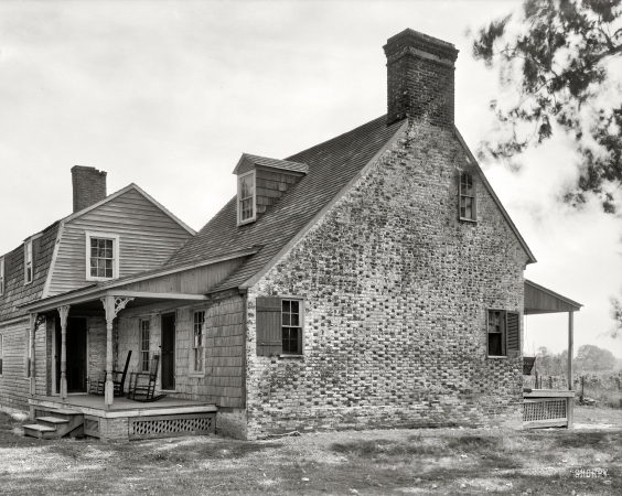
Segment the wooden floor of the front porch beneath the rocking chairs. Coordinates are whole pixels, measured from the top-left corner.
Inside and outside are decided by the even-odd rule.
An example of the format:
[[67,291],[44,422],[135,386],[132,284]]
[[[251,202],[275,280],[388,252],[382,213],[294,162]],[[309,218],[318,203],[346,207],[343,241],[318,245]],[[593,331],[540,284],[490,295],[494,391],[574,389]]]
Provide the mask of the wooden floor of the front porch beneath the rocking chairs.
[[164,397],[153,402],[133,401],[115,398],[110,407],[104,405],[104,397],[96,395],[71,395],[63,401],[58,396],[35,396],[29,399],[32,407],[50,407],[65,410],[78,410],[88,416],[100,418],[148,417],[170,413],[216,412],[214,403],[183,398]]

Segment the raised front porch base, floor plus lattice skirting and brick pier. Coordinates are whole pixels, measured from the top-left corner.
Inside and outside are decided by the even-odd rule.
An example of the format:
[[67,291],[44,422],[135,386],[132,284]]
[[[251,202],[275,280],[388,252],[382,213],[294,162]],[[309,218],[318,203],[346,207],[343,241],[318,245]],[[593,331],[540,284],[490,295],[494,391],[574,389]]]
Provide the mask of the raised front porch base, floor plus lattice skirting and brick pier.
[[100,396],[93,395],[69,395],[65,400],[57,396],[34,396],[29,405],[33,421],[68,419],[73,435],[103,440],[200,435],[213,433],[216,427],[214,403],[182,398],[165,397],[151,403],[116,398],[112,405],[106,406]]

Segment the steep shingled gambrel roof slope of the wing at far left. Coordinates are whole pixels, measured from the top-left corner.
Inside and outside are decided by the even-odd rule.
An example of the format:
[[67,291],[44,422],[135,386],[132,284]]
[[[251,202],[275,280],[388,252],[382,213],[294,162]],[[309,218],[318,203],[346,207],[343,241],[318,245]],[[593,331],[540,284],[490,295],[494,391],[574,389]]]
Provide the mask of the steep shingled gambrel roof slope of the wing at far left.
[[39,254],[34,259],[32,282],[24,285],[24,246],[4,255],[4,294],[0,298],[0,322],[25,315],[18,308],[41,298],[54,254],[60,222],[43,230]]

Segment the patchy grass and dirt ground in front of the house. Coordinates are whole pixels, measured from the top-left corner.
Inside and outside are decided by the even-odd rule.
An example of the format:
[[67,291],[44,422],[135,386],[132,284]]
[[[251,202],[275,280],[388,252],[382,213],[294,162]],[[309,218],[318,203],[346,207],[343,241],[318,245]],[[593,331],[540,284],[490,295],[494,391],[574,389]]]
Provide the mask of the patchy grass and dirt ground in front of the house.
[[24,438],[21,422],[0,412],[0,494],[622,494],[622,412],[579,407],[575,418],[580,429],[396,429],[256,442],[214,435],[104,443]]

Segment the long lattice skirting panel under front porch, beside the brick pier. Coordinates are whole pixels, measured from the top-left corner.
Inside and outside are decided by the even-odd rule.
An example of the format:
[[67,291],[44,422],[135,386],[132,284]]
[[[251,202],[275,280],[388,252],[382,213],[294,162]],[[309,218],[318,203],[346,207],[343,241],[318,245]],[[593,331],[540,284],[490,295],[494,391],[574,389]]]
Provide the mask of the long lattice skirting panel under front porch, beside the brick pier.
[[213,433],[215,413],[185,413],[129,419],[129,439],[173,438]]

